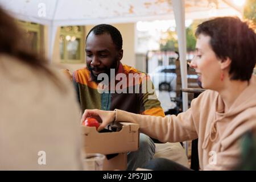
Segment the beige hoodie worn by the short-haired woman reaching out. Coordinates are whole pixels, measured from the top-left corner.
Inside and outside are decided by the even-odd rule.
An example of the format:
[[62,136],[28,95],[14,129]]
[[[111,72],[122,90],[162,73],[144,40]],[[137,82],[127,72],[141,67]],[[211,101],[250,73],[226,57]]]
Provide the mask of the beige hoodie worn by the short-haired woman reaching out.
[[162,142],[199,138],[201,169],[233,169],[240,159],[241,135],[256,127],[256,76],[226,113],[220,94],[206,90],[192,101],[190,109],[177,116],[162,118],[117,110],[116,121],[138,123],[142,133]]

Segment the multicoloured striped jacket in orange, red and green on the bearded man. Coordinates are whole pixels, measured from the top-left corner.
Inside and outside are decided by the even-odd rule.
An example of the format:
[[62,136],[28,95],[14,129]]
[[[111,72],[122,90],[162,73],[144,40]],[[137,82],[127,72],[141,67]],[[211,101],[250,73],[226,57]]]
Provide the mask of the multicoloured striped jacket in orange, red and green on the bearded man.
[[[88,68],[82,68],[73,72],[73,84],[75,85],[81,111],[85,109],[114,110],[121,109],[135,114],[155,115],[164,117],[164,111],[155,95],[154,85],[146,73],[127,65],[119,64],[118,71],[124,73],[126,84],[121,85],[120,81],[114,81],[114,89],[106,89],[102,93],[101,86],[92,81]],[[129,73],[135,75],[133,80],[129,78]],[[139,78],[137,81],[136,78]],[[125,83],[125,80],[123,80]],[[146,89],[146,85],[151,86]],[[120,86],[121,85],[121,86]],[[136,92],[137,89],[137,92]],[[139,89],[139,92],[138,92]],[[133,92],[129,92],[133,90]],[[122,93],[120,93],[122,92]]]

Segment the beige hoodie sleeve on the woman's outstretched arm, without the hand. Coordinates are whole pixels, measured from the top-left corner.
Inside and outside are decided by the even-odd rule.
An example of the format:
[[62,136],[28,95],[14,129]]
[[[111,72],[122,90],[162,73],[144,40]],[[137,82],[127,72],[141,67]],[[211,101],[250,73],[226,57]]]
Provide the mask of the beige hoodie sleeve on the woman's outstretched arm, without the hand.
[[137,123],[142,133],[160,142],[180,142],[197,138],[191,109],[177,116],[171,115],[164,118],[133,114],[118,109],[116,113],[115,121]]

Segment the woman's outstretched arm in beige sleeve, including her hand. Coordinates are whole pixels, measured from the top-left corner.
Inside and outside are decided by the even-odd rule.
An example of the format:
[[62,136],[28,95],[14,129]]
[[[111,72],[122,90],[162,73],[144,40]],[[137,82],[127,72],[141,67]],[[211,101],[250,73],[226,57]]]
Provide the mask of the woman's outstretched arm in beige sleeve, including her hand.
[[156,138],[160,142],[180,142],[197,138],[196,129],[191,119],[191,111],[179,114],[177,117],[155,117],[152,115],[133,114],[123,110],[85,110],[82,115],[83,122],[87,117],[100,117],[102,123],[98,131],[102,130],[112,122],[131,122],[140,125],[142,133]]

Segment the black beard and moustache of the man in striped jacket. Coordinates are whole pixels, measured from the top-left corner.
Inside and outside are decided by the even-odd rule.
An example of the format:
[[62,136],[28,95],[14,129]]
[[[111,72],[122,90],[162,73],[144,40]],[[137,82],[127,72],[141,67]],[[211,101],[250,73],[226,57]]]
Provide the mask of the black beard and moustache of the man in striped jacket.
[[118,61],[118,59],[116,58],[116,59],[113,61],[112,65],[110,65],[109,68],[108,68],[108,67],[104,67],[104,68],[101,68],[101,69],[98,69],[97,67],[96,67],[96,68],[92,68],[92,67],[90,67],[90,65],[87,64],[87,63],[86,63],[86,65],[87,65],[87,68],[88,68],[89,71],[90,71],[90,77],[92,78],[92,81],[97,82],[97,83],[100,83],[102,80],[98,80],[98,75],[94,75],[92,71],[104,71],[104,72],[102,72],[102,73],[106,73],[106,75],[108,75],[108,78],[109,78],[109,81],[110,81],[110,79],[112,79],[112,78],[110,78],[110,70],[111,70],[111,69],[115,69],[115,68],[118,69],[119,61]]

